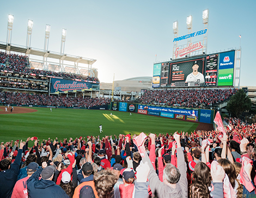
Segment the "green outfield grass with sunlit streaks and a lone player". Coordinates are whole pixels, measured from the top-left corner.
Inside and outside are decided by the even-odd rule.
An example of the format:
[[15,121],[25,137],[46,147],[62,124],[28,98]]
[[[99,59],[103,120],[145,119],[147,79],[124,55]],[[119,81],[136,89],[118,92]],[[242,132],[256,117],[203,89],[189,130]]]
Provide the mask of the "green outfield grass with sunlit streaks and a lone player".
[[[88,135],[100,137],[105,135],[139,134],[140,132],[170,133],[191,132],[196,129],[198,123],[182,120],[147,116],[128,112],[115,112],[104,110],[76,110],[53,108],[35,108],[34,113],[0,114],[1,142],[16,139],[27,139],[36,136],[40,140],[50,137],[76,138]],[[110,116],[112,112],[113,116]],[[103,132],[99,132],[102,124]],[[31,142],[32,143],[32,142]]]

